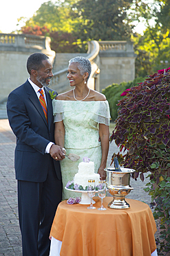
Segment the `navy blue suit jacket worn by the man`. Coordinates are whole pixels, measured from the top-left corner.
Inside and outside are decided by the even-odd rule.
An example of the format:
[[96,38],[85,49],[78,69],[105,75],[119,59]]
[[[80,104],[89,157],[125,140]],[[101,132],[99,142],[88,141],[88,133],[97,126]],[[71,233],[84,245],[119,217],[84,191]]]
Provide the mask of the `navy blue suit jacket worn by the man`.
[[[45,154],[45,148],[50,141],[54,142],[52,99],[49,91],[52,90],[45,87],[48,125],[39,98],[28,80],[8,96],[8,119],[17,136],[14,160],[16,179],[21,181],[43,182],[47,177],[51,156]],[[59,161],[54,161],[54,168],[58,179],[61,179]]]

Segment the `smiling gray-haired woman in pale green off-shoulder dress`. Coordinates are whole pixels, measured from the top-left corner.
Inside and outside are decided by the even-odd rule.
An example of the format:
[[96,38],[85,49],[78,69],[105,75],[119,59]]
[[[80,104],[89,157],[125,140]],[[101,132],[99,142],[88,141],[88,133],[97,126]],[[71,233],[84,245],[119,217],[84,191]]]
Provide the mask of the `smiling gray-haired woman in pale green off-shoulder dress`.
[[[61,161],[63,188],[78,172],[78,163],[87,156],[94,162],[100,179],[106,178],[105,167],[109,150],[109,104],[105,95],[87,86],[92,67],[85,57],[74,57],[69,62],[67,78],[71,91],[56,96],[53,100],[55,143],[65,147],[66,154],[74,153],[81,158],[72,162]],[[99,141],[100,137],[100,141]],[[57,156],[59,160],[61,156]],[[76,193],[63,190],[64,199]]]

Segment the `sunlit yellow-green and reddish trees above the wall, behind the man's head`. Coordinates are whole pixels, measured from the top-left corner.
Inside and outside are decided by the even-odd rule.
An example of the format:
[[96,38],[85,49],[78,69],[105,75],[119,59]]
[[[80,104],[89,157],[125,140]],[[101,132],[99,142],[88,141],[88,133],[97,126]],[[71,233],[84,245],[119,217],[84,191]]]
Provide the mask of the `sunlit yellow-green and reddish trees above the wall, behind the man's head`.
[[34,16],[25,22],[21,32],[51,37],[51,48],[56,53],[84,53],[87,46],[72,34],[73,24],[70,18],[71,5],[76,1],[47,1],[41,5]]

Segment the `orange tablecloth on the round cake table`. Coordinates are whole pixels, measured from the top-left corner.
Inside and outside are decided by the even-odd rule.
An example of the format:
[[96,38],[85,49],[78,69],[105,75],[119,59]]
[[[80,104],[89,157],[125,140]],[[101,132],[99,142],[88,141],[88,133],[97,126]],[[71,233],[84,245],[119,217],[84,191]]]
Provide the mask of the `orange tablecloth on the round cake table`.
[[[105,197],[107,208],[112,197]],[[62,201],[54,217],[51,236],[62,241],[61,256],[151,256],[156,250],[156,223],[146,203],[126,199],[130,208],[99,211],[88,205]]]

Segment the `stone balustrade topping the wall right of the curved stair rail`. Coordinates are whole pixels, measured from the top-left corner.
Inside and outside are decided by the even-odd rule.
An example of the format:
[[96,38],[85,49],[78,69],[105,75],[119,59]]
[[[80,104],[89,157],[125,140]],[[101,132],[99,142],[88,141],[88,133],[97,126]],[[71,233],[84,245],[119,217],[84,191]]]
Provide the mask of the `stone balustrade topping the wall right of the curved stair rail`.
[[133,43],[127,41],[98,41],[100,51],[134,51]]

